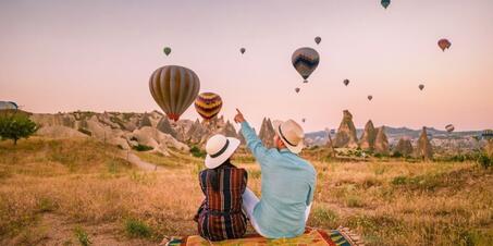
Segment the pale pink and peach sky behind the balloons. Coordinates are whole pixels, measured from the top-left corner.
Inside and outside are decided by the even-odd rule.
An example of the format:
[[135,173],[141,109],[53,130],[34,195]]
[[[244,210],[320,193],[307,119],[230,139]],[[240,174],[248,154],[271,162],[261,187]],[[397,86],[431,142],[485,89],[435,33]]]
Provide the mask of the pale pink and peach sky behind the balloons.
[[[386,10],[380,0],[0,0],[0,100],[38,113],[160,110],[149,76],[174,64],[222,97],[226,119],[238,108],[257,127],[269,116],[336,128],[347,109],[357,127],[492,128],[492,12],[491,0]],[[308,84],[291,62],[299,47],[320,53]],[[182,118],[199,115],[190,106]]]

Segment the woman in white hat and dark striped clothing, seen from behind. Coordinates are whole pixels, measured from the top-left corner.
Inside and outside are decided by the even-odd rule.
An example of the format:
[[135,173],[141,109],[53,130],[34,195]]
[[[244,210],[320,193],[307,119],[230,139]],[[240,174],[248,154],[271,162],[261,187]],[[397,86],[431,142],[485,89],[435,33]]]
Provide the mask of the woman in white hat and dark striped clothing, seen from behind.
[[200,236],[210,241],[238,238],[245,234],[247,219],[242,210],[242,195],[247,172],[230,162],[239,140],[217,134],[206,145],[206,167],[199,173],[200,188],[206,195],[195,221]]

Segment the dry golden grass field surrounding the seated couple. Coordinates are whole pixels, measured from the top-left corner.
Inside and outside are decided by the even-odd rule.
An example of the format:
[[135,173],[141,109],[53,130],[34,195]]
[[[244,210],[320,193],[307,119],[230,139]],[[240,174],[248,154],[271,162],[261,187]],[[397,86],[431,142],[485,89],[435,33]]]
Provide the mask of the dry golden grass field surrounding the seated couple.
[[[201,160],[138,153],[163,167],[143,172],[119,151],[91,139],[0,143],[0,245],[156,245],[164,235],[196,234]],[[493,242],[491,169],[467,162],[313,163],[318,187],[309,226],[349,226],[367,245]],[[237,164],[259,194],[258,165]]]

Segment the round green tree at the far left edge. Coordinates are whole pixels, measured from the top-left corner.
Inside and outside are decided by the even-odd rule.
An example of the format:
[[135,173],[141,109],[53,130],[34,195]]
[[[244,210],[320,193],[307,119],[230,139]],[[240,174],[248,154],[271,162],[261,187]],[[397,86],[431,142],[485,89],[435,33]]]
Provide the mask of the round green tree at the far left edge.
[[21,138],[28,138],[37,130],[38,125],[26,115],[0,116],[0,137],[2,139],[12,139],[14,145]]

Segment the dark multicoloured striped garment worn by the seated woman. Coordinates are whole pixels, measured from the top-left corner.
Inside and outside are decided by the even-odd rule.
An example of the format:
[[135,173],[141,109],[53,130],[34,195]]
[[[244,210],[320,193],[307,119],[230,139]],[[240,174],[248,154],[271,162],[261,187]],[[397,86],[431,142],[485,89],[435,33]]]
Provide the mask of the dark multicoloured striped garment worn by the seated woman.
[[247,219],[242,210],[242,195],[247,185],[247,172],[233,165],[218,170],[219,190],[212,188],[209,173],[199,173],[200,188],[206,199],[196,219],[200,236],[210,241],[238,238],[245,234]]

